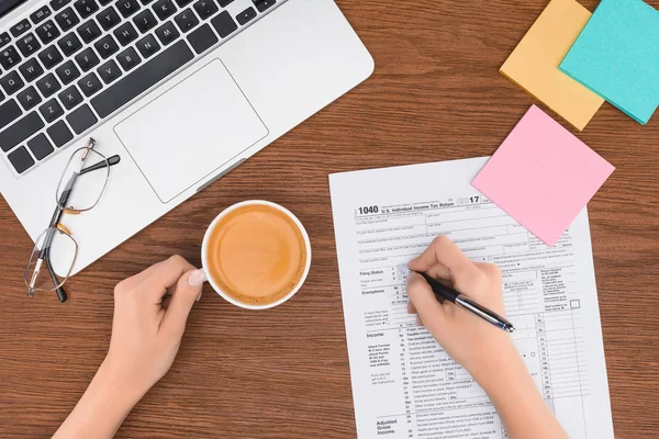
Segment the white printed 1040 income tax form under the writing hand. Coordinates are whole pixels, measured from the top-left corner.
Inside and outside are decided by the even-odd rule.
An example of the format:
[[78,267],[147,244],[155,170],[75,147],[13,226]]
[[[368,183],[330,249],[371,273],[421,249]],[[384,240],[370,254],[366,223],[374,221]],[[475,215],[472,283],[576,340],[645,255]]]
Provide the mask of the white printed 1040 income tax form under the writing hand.
[[471,187],[487,160],[330,176],[359,439],[507,438],[483,390],[407,314],[396,267],[437,235],[501,268],[515,346],[570,438],[613,438],[585,209],[547,247]]

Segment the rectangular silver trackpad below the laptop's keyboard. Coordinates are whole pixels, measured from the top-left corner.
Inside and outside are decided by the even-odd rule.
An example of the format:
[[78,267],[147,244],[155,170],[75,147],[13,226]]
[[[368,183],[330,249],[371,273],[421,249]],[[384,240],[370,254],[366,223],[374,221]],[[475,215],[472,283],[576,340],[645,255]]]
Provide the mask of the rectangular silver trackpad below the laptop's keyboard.
[[114,132],[164,203],[268,135],[219,59],[120,122]]

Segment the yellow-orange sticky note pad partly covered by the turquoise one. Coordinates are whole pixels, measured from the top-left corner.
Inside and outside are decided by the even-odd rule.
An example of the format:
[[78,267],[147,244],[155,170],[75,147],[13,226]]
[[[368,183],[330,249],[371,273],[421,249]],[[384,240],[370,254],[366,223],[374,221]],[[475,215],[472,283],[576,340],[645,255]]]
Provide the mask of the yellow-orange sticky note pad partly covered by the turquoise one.
[[590,16],[574,0],[551,0],[499,70],[578,130],[585,127],[604,99],[558,66]]

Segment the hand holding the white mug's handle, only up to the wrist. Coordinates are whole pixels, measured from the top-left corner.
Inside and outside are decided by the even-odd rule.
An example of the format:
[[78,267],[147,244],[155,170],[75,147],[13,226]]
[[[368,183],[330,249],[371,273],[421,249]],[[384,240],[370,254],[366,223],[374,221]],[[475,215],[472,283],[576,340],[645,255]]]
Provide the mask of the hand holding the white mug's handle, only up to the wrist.
[[104,363],[126,387],[144,394],[167,373],[204,281],[203,271],[172,256],[114,288],[112,339]]

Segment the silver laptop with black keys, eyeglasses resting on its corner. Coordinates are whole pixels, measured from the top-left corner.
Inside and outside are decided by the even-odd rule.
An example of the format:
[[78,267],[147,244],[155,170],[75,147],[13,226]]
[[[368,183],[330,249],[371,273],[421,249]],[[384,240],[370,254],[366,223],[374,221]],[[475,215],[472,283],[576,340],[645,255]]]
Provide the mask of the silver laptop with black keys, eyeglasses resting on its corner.
[[36,240],[74,150],[121,157],[76,273],[372,71],[334,0],[0,0],[0,191]]

